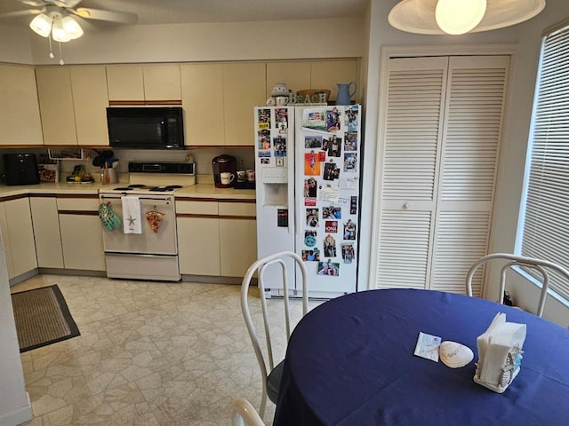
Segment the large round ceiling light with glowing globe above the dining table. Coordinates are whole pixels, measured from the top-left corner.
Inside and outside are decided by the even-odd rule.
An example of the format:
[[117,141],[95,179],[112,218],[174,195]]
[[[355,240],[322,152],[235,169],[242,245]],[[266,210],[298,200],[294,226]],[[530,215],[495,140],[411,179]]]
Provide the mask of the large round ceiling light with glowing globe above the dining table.
[[544,8],[545,0],[401,0],[388,20],[408,33],[459,35],[516,25]]

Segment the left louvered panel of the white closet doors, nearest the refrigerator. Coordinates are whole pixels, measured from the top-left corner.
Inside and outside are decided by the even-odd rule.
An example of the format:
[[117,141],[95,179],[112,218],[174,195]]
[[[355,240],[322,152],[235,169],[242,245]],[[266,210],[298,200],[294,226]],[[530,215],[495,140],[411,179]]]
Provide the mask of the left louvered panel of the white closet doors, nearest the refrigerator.
[[389,61],[378,288],[429,280],[447,67],[447,58]]

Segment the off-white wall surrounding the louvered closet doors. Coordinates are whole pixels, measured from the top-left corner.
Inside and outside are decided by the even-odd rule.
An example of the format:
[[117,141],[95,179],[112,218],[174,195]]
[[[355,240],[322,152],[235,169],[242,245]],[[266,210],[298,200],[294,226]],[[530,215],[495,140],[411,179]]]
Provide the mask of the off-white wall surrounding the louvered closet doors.
[[[370,146],[378,144],[377,117],[381,113],[381,103],[378,99],[384,89],[380,87],[382,47],[426,46],[439,51],[444,51],[445,48],[454,51],[455,46],[459,45],[463,47],[465,53],[468,53],[469,45],[517,43],[518,53],[515,55],[516,61],[509,82],[509,106],[501,144],[500,173],[490,248],[490,251],[512,252],[515,247],[517,215],[523,185],[525,151],[533,106],[541,33],[558,21],[569,18],[569,2],[548,0],[546,9],[533,20],[510,28],[464,36],[420,36],[391,28],[387,17],[397,2],[398,0],[372,0],[371,4],[371,33],[367,52],[369,66],[366,92],[366,154],[370,152]],[[376,179],[375,159],[370,157],[372,155],[365,156],[365,182]],[[373,185],[365,185],[364,199],[370,200],[373,195]],[[363,212],[366,215],[368,213],[364,210]],[[365,216],[361,229],[365,229],[366,224],[371,225],[372,223],[373,217]],[[369,267],[374,266],[370,259],[368,259],[368,265],[365,264],[364,258],[360,258],[360,261],[362,269],[369,271]],[[488,288],[486,293],[487,298],[497,299],[497,283]],[[557,322],[566,325],[569,322],[569,310],[565,309],[565,319],[557,319]]]

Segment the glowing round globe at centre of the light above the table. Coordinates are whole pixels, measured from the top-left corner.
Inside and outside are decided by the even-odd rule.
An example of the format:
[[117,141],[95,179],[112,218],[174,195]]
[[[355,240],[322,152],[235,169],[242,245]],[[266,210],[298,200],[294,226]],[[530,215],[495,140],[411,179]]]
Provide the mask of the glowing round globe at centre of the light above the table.
[[437,25],[446,34],[466,34],[484,18],[486,0],[438,0]]

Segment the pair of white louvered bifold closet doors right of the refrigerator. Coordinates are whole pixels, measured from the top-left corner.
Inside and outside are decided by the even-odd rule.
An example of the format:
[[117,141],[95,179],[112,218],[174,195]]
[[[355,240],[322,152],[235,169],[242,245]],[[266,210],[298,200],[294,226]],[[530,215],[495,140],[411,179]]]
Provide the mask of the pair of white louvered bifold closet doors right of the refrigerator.
[[488,248],[509,57],[437,58],[440,94],[426,60],[390,61],[376,283],[464,293]]

